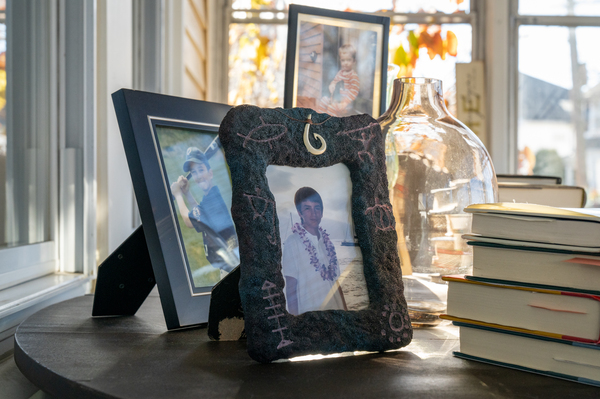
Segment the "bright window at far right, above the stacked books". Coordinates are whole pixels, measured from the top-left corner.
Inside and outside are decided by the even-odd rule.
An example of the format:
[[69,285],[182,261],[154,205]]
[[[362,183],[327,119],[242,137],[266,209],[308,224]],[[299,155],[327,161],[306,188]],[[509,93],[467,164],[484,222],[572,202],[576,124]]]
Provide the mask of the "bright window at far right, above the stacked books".
[[600,1],[513,1],[517,172],[560,176],[600,206]]

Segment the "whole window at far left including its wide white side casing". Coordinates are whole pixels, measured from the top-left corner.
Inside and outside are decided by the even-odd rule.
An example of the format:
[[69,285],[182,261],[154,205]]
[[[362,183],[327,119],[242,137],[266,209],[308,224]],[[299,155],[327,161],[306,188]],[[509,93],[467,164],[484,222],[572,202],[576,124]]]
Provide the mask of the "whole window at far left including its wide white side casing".
[[0,290],[13,287],[5,303],[20,283],[84,272],[44,279],[38,290],[49,294],[82,284],[93,267],[94,18],[91,1],[0,0]]

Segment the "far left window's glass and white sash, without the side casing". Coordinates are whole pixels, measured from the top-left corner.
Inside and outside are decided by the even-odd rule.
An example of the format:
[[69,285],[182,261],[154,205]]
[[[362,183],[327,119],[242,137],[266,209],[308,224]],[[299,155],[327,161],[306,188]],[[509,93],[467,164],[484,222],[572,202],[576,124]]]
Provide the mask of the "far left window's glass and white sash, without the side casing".
[[0,289],[56,270],[53,12],[0,2]]

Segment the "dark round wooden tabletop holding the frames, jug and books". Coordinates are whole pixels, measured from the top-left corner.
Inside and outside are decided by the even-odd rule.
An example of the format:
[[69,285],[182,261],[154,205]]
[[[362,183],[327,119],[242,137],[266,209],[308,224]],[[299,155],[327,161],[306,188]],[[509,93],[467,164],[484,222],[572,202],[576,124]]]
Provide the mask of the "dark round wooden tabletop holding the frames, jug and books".
[[39,311],[15,334],[15,361],[56,398],[586,398],[600,389],[452,356],[454,326],[417,329],[407,348],[259,364],[244,342],[167,332],[160,300],[92,318],[92,296]]

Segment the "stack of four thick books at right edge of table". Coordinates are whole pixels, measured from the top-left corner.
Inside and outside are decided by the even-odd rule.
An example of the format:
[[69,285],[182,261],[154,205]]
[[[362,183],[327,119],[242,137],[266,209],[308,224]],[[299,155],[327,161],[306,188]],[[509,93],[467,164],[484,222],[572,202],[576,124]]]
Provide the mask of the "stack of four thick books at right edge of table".
[[479,204],[447,276],[458,357],[600,386],[600,209]]

